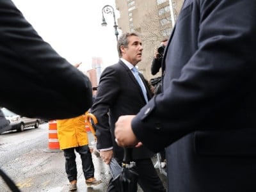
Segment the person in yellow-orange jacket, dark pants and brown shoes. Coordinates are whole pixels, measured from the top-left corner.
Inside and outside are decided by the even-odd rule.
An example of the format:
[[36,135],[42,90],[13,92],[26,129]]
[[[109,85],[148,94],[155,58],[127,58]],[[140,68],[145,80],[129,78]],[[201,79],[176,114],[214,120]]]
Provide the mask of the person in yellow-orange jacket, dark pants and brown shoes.
[[88,147],[88,135],[85,130],[85,116],[57,120],[58,140],[64,152],[65,170],[70,182],[70,191],[77,189],[76,154],[79,153],[83,166],[86,185],[100,184],[101,180],[94,177],[92,154]]

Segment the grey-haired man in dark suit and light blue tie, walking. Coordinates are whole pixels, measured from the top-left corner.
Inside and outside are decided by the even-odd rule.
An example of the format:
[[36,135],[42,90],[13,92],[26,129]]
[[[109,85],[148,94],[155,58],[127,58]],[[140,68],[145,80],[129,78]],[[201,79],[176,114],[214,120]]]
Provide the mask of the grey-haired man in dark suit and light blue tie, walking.
[[[92,106],[92,113],[98,120],[98,124],[95,125],[97,148],[100,150],[100,157],[107,164],[113,156],[118,163],[121,163],[124,158],[123,148],[118,147],[115,142],[116,120],[121,115],[135,115],[151,98],[144,77],[140,74],[138,79],[143,83],[141,88],[132,71],[141,61],[143,47],[140,37],[136,33],[125,33],[118,39],[117,47],[120,60],[102,72]],[[143,90],[146,91],[146,97],[143,95]],[[150,159],[153,155],[154,153],[144,146],[132,149],[132,157],[136,163],[135,169],[139,174],[138,184],[143,191],[165,191]],[[108,191],[116,191],[111,180]]]

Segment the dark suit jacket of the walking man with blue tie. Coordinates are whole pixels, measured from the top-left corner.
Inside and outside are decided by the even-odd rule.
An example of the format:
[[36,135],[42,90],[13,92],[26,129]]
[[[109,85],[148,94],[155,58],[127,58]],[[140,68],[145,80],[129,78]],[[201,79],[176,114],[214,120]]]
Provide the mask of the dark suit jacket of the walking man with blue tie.
[[[141,74],[140,76],[144,80]],[[150,91],[146,84],[145,87],[150,99]],[[118,161],[122,161],[124,150],[115,142],[115,122],[121,115],[136,115],[145,104],[140,84],[121,60],[107,67],[100,77],[97,95],[92,106],[92,113],[98,120],[98,124],[95,125],[97,148],[113,146],[114,156]],[[145,147],[134,148],[132,153],[133,159],[144,159],[152,155],[153,153]]]

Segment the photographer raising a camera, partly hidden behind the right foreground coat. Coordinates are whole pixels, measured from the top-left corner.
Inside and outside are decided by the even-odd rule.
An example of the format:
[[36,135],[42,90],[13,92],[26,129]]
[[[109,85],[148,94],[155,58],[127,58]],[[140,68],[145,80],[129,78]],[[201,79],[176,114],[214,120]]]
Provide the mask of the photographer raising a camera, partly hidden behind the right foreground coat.
[[160,47],[157,47],[155,49],[155,55],[154,59],[152,61],[151,65],[151,74],[154,76],[159,72],[161,68],[161,63],[163,60],[163,54],[164,54],[164,49],[168,43],[168,38],[164,38],[163,41],[161,41]]

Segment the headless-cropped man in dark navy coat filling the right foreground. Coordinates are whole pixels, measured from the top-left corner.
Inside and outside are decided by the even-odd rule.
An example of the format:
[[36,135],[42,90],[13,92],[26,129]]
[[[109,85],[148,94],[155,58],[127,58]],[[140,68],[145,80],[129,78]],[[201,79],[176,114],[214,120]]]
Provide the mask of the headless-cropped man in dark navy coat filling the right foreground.
[[[120,146],[168,147],[168,191],[256,191],[256,1],[186,0],[163,93],[121,116]],[[152,141],[155,142],[152,142]]]

